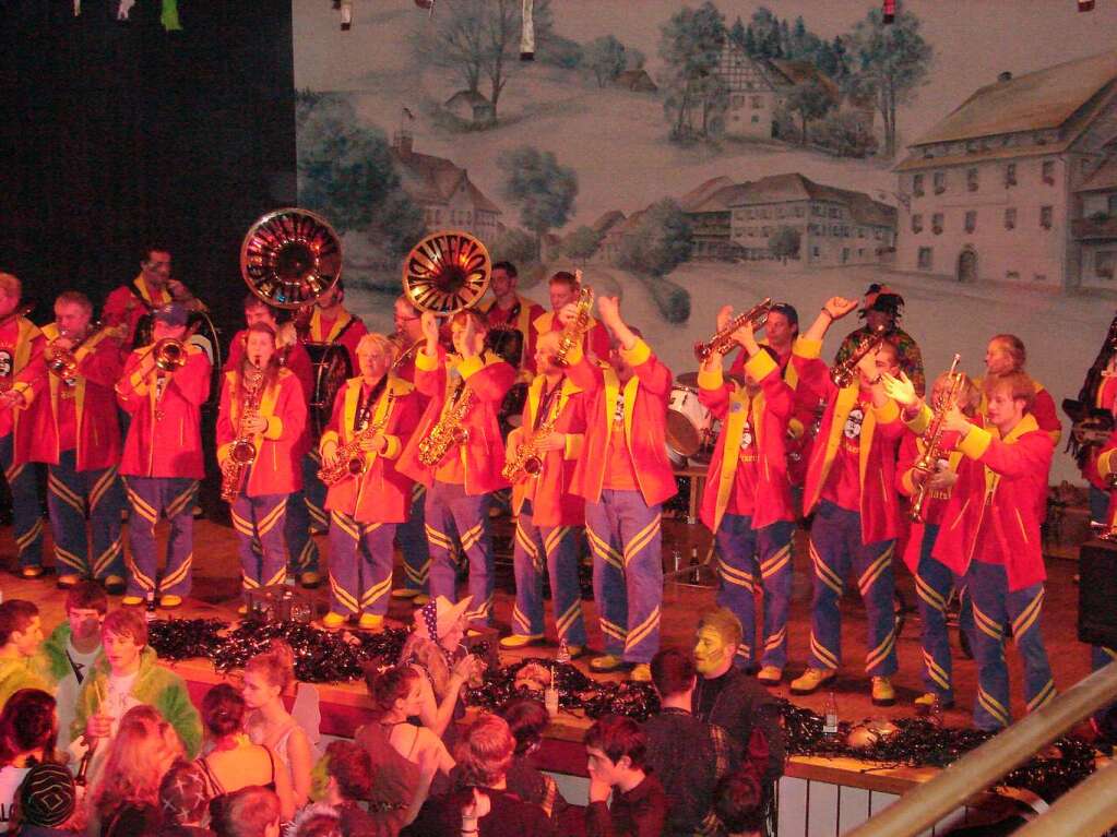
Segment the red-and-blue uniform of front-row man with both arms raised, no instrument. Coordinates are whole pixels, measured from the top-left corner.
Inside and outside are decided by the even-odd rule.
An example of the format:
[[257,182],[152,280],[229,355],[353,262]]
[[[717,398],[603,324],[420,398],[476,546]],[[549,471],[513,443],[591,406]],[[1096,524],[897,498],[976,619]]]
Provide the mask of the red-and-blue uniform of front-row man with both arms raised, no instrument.
[[585,499],[593,598],[605,655],[613,658],[599,670],[621,660],[646,664],[659,648],[660,512],[678,490],[666,448],[671,371],[642,339],[623,356],[633,368],[623,388],[611,366],[591,364],[580,346],[567,358],[567,376],[590,402],[571,493]]

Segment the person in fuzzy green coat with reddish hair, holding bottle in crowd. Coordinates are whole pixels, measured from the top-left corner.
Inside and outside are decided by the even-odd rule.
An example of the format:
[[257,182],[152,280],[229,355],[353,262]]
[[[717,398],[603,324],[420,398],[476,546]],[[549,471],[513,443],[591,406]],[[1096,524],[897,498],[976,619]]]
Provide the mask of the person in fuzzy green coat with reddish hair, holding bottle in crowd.
[[[83,732],[86,741],[115,738],[125,713],[147,704],[171,724],[187,754],[195,756],[202,740],[201,718],[185,681],[160,665],[155,650],[147,645],[143,614],[126,607],[109,613],[101,625],[101,644],[104,654],[82,681],[71,739]],[[98,749],[106,743],[98,743]]]

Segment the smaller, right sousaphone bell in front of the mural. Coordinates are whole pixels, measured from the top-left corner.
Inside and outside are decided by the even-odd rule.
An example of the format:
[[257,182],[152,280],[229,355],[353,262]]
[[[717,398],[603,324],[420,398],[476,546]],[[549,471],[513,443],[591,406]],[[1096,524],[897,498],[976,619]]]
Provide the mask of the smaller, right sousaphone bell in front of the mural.
[[479,239],[460,230],[432,232],[403,260],[403,292],[419,310],[449,317],[480,301],[491,268]]

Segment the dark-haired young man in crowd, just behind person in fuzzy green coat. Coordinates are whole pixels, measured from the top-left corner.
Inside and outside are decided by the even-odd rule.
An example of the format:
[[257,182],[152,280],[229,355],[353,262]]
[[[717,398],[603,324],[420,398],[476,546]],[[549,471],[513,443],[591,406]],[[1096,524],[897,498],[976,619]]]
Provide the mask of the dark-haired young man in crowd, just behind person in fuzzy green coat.
[[106,613],[105,588],[96,581],[78,581],[66,594],[66,619],[42,643],[50,680],[57,684],[58,749],[63,751],[70,744],[82,681],[101,655],[101,623]]

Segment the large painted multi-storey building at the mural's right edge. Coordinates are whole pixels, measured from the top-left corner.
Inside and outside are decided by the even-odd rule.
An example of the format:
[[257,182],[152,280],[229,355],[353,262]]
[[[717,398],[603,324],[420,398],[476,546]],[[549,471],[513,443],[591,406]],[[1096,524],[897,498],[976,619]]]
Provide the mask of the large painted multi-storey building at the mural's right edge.
[[899,269],[1117,289],[1117,52],[1002,74],[896,172]]

